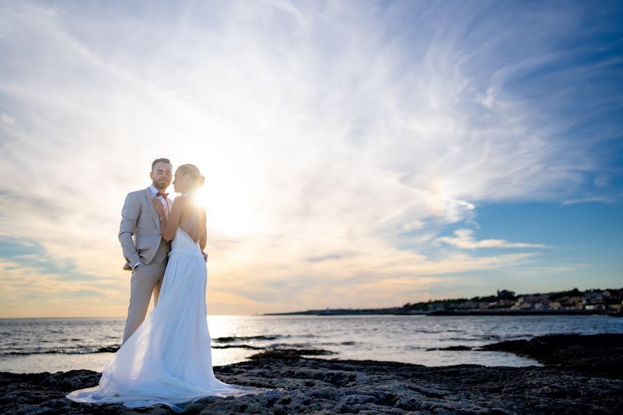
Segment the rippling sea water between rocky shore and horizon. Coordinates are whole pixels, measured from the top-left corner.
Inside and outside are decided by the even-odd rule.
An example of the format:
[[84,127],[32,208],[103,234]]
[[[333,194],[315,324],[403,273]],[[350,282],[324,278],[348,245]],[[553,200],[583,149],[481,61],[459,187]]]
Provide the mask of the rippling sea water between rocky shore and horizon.
[[[123,318],[0,319],[0,371],[100,371],[123,335]],[[554,333],[623,333],[607,316],[208,316],[213,365],[240,362],[261,349],[327,349],[324,358],[394,360],[427,366],[538,365],[509,353],[429,351]]]

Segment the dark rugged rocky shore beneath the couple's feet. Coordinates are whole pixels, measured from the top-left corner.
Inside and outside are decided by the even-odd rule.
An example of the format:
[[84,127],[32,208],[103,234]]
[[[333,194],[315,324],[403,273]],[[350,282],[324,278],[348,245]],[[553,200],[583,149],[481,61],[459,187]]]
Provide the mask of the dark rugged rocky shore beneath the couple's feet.
[[[489,350],[530,356],[545,367],[424,367],[268,351],[215,367],[228,383],[281,387],[260,396],[204,398],[184,414],[621,414],[623,335],[554,335]],[[474,351],[478,353],[478,351]],[[597,355],[595,356],[595,353]],[[595,356],[595,358],[592,358]],[[617,366],[619,365],[619,366]],[[174,414],[165,406],[73,403],[64,396],[98,384],[87,370],[0,373],[1,414]]]

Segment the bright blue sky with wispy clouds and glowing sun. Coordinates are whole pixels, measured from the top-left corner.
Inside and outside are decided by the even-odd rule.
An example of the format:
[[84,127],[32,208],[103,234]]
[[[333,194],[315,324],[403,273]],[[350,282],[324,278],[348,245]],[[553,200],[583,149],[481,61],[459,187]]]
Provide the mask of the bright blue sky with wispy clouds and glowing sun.
[[622,110],[620,1],[3,1],[0,317],[125,315],[160,157],[208,314],[620,288]]

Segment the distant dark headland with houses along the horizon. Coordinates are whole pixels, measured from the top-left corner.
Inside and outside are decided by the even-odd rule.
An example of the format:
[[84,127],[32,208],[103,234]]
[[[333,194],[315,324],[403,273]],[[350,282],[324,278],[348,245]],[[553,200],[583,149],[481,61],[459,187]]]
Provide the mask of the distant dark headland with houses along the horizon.
[[621,317],[623,288],[519,294],[498,290],[487,297],[437,299],[385,308],[325,308],[263,315],[612,315]]

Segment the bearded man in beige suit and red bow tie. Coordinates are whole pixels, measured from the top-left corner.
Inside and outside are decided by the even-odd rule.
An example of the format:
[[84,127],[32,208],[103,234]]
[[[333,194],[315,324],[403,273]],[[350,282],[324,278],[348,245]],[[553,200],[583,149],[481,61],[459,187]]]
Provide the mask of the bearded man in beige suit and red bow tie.
[[157,197],[168,215],[173,201],[168,199],[168,193],[164,191],[171,184],[172,172],[173,166],[168,158],[154,160],[150,172],[152,185],[144,190],[130,192],[123,203],[119,241],[126,261],[123,269],[132,270],[123,343],[145,320],[152,293],[154,306],[158,302],[171,248],[170,243],[162,238],[160,219],[151,200]]

